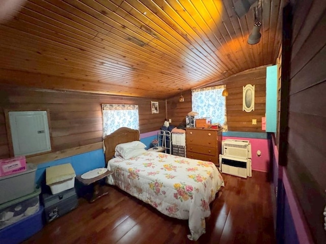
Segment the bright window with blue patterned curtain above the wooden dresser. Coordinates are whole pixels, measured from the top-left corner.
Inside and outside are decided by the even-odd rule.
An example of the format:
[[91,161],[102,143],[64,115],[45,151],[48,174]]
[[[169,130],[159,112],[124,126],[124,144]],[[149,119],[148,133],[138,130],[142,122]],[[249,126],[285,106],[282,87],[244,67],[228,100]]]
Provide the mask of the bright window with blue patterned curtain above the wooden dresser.
[[192,110],[197,112],[196,118],[210,117],[212,124],[226,124],[225,97],[222,92],[225,85],[211,86],[192,90]]

